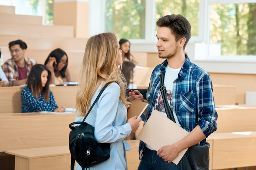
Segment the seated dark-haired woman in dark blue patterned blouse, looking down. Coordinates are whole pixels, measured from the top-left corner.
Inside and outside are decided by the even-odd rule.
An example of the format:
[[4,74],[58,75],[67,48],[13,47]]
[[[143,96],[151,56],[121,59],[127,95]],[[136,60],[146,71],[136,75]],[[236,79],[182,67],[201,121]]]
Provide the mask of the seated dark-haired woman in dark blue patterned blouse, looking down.
[[52,91],[49,89],[51,72],[45,65],[32,67],[27,79],[27,87],[21,91],[21,112],[55,111],[64,112],[65,107],[58,107]]

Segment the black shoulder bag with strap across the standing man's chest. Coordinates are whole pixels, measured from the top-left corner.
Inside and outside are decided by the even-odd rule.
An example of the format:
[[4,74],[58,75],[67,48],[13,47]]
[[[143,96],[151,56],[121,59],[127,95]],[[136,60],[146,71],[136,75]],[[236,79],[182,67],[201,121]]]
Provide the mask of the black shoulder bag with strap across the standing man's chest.
[[[160,76],[160,92],[164,101],[164,108],[166,110],[167,117],[175,122],[173,117],[173,111],[167,102],[166,89],[164,86],[164,74],[161,72]],[[196,122],[198,117],[196,116]],[[176,123],[176,122],[175,122]],[[201,142],[200,142],[201,143]],[[204,142],[202,146],[191,146],[186,151],[185,155],[180,160],[181,170],[209,170],[209,148],[210,144]]]

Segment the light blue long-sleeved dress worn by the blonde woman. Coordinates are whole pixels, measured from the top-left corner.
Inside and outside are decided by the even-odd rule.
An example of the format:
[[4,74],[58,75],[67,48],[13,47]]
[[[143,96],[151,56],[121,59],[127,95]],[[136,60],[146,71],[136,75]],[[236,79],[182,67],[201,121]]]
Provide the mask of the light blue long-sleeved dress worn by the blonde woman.
[[[92,97],[91,105],[100,89],[101,86]],[[124,138],[130,135],[132,129],[130,124],[126,123],[127,109],[119,97],[119,85],[111,83],[85,120],[94,126],[94,137],[98,142],[110,143],[110,158],[91,167],[90,170],[127,170],[126,150],[130,150],[130,145]],[[75,121],[82,121],[83,118],[76,116]],[[76,163],[76,170],[81,170],[78,163]]]

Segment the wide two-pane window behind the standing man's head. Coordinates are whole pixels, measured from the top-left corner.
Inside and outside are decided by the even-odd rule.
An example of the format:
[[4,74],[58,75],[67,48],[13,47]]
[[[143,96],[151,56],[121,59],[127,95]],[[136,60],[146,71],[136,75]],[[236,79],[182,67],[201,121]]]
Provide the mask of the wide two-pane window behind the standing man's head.
[[[149,37],[155,37],[160,17],[181,14],[191,23],[192,36],[198,36],[199,4],[200,0],[106,0],[105,31],[115,32],[119,39],[147,39],[146,29],[153,28],[148,33],[152,34]],[[150,13],[155,13],[153,18]]]

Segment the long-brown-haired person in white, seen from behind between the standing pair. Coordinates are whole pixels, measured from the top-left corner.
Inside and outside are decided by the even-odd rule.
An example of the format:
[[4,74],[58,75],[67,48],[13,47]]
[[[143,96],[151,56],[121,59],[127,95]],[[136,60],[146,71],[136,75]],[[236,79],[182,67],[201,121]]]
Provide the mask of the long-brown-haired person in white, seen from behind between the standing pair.
[[133,82],[135,64],[131,61],[123,61],[121,71],[126,79],[126,87],[129,89],[137,89],[136,83]]

